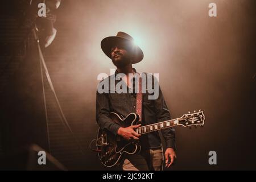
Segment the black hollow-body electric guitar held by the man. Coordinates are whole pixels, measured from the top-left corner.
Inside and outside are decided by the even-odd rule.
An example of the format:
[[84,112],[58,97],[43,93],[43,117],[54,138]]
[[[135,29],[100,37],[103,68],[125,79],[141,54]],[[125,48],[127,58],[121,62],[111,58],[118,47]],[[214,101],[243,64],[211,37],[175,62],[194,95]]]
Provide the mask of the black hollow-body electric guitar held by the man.
[[[121,127],[129,127],[139,124],[139,115],[135,113],[128,114],[125,118],[117,113],[110,113],[113,122],[118,123]],[[184,114],[180,118],[168,121],[158,122],[151,125],[141,126],[134,131],[140,135],[181,125],[183,127],[203,126],[205,115],[203,111],[194,111],[194,113]],[[96,139],[98,157],[101,163],[106,167],[118,166],[121,163],[124,154],[137,154],[141,151],[138,140],[125,140],[124,138],[115,136],[109,131],[98,130],[98,138]]]

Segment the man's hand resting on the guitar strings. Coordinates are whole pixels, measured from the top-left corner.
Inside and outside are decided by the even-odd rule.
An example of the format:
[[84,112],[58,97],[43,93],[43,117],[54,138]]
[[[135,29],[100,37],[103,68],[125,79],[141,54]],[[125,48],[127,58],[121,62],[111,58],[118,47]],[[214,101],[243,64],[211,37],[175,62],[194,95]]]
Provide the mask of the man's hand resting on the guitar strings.
[[137,127],[140,127],[140,125],[134,125],[129,127],[120,127],[117,131],[117,134],[125,138],[126,140],[130,139],[139,139],[138,137],[141,137],[138,133],[134,131],[134,129],[137,129]]

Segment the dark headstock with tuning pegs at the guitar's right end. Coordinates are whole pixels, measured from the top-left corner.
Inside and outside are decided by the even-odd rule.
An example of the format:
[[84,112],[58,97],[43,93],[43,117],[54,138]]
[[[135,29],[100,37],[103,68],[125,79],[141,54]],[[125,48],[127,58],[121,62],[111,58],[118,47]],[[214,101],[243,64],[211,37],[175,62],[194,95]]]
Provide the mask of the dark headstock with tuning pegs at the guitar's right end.
[[203,127],[204,120],[205,120],[204,111],[199,110],[198,112],[196,112],[194,110],[194,113],[188,112],[188,114],[183,114],[183,116],[179,118],[179,125],[182,125],[184,127],[187,127],[187,126]]

